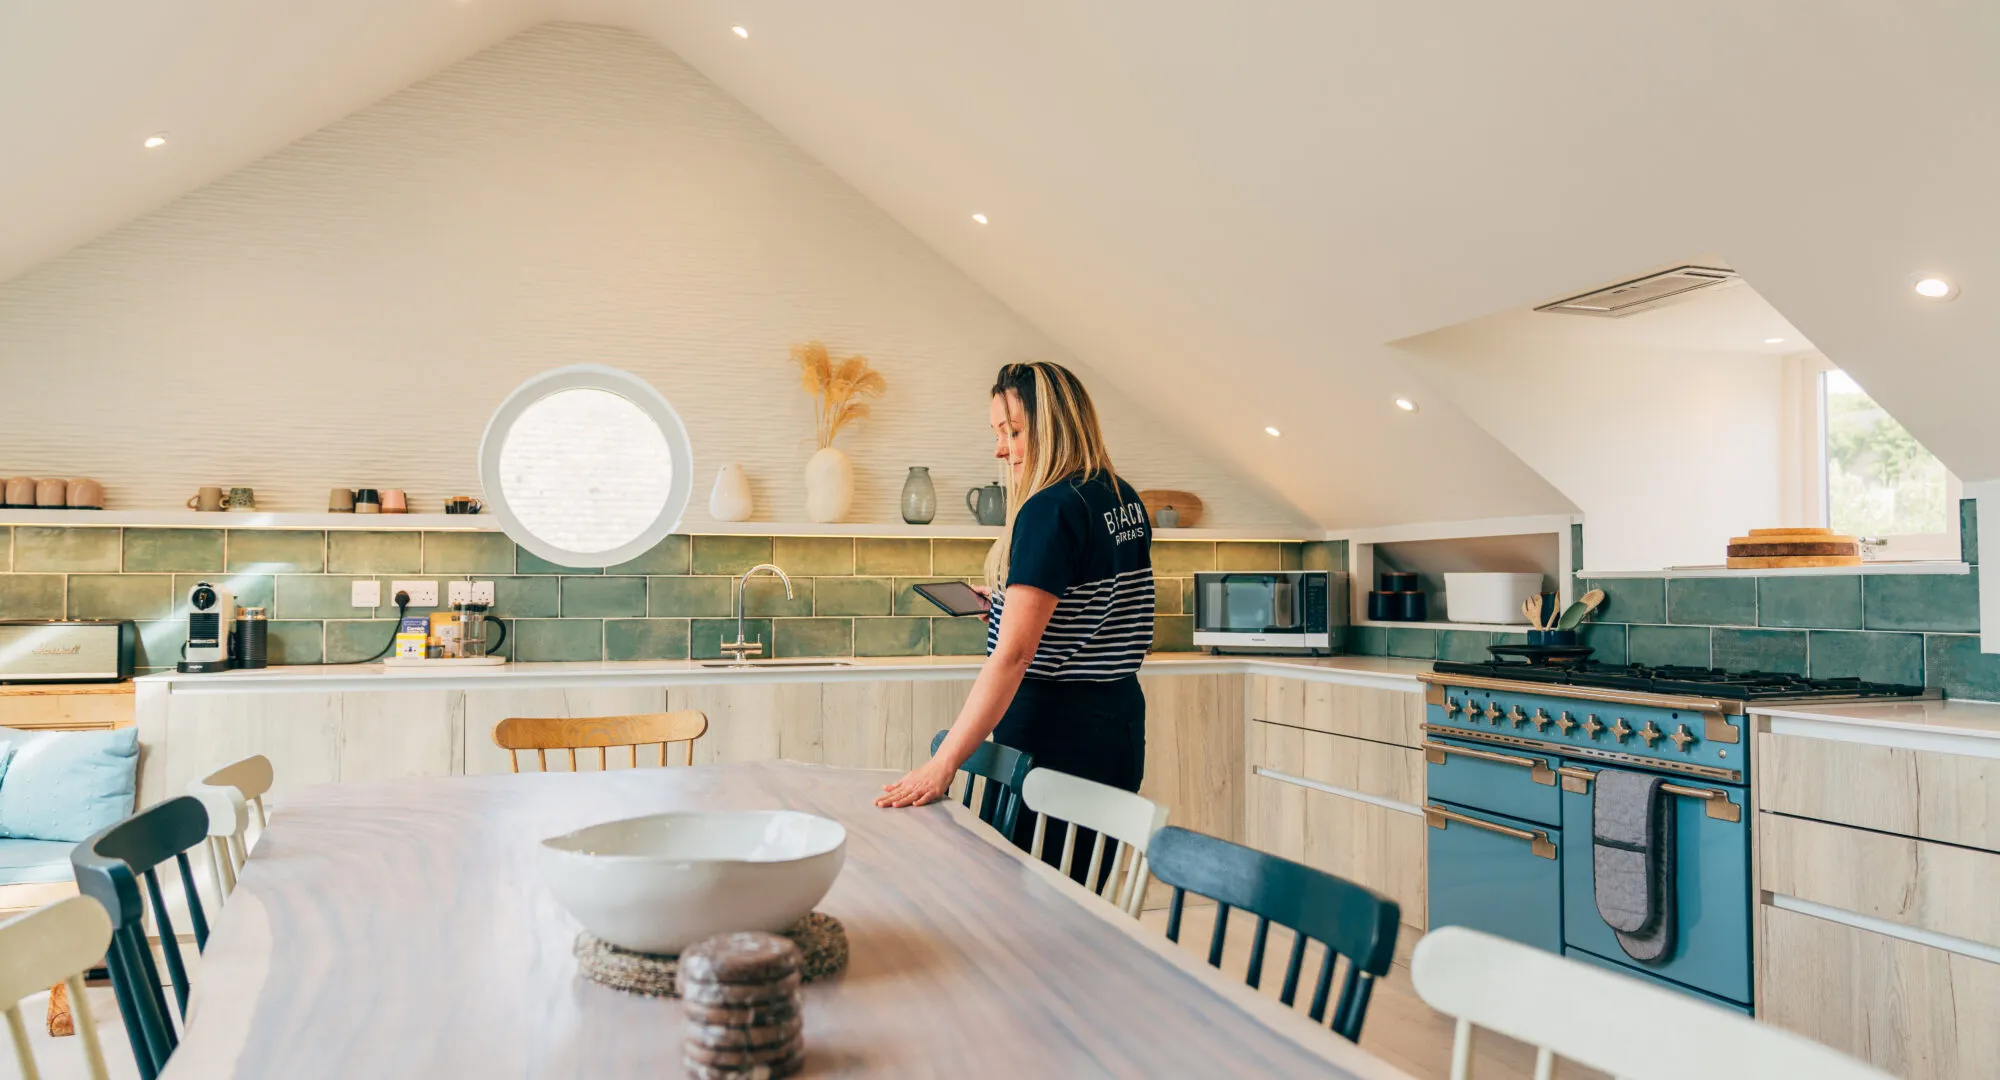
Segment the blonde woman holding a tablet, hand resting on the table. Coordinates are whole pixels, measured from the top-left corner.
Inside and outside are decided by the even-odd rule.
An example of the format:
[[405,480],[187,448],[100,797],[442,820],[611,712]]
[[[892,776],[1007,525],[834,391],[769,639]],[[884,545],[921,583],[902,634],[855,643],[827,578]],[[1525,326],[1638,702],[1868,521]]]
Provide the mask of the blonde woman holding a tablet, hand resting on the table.
[[[1012,528],[986,560],[986,664],[932,758],[882,788],[876,806],[944,798],[986,740],[1034,764],[1138,790],[1152,646],[1152,528],[1138,492],[1112,470],[1096,408],[1058,364],[1008,364],[992,388],[994,456],[1008,462]],[[1016,844],[1034,836],[1022,814]],[[1056,862],[1060,832],[1044,856]],[[1078,830],[1082,868],[1090,844]]]

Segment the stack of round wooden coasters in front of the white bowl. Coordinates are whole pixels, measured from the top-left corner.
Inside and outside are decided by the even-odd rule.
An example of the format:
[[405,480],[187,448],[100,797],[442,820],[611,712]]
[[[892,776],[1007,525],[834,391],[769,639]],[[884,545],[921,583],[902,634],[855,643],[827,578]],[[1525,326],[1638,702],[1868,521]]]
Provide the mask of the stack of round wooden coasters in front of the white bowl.
[[680,954],[694,1080],[778,1080],[806,1064],[800,952],[778,934],[722,934]]

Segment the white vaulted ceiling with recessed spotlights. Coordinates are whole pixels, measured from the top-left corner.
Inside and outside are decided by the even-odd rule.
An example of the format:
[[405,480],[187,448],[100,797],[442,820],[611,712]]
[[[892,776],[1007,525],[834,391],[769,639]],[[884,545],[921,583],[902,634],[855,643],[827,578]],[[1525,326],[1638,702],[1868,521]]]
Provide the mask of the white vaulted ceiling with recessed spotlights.
[[1572,508],[1388,342],[1698,252],[2000,476],[1976,0],[6,4],[0,280],[550,18],[654,36],[1326,526]]

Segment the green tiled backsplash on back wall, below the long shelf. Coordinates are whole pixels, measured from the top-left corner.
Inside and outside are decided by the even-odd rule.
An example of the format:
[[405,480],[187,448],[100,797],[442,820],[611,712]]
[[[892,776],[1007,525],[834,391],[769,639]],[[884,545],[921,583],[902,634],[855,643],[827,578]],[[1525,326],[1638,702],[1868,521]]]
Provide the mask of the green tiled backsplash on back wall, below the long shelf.
[[[130,618],[140,672],[172,668],[186,638],[186,594],[220,580],[270,616],[272,664],[338,664],[376,654],[394,604],[354,608],[352,582],[492,580],[516,660],[720,658],[736,636],[730,576],[776,562],[744,596],[744,636],[766,656],[978,656],[976,618],[930,618],[918,582],[982,578],[988,540],[842,536],[668,536],[604,570],[554,566],[498,532],[0,528],[0,618]],[[1154,648],[1192,648],[1196,570],[1296,570],[1346,562],[1336,544],[1154,544],[1160,566]],[[428,608],[412,608],[424,612]]]

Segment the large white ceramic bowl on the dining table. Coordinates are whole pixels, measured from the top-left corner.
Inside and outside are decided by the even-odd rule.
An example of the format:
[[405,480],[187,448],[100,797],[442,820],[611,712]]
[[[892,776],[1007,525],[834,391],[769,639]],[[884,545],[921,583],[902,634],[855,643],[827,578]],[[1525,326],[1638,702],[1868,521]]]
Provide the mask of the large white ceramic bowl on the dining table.
[[712,934],[798,922],[846,856],[840,822],[796,810],[652,814],[542,840],[542,876],[584,930],[678,954]]

